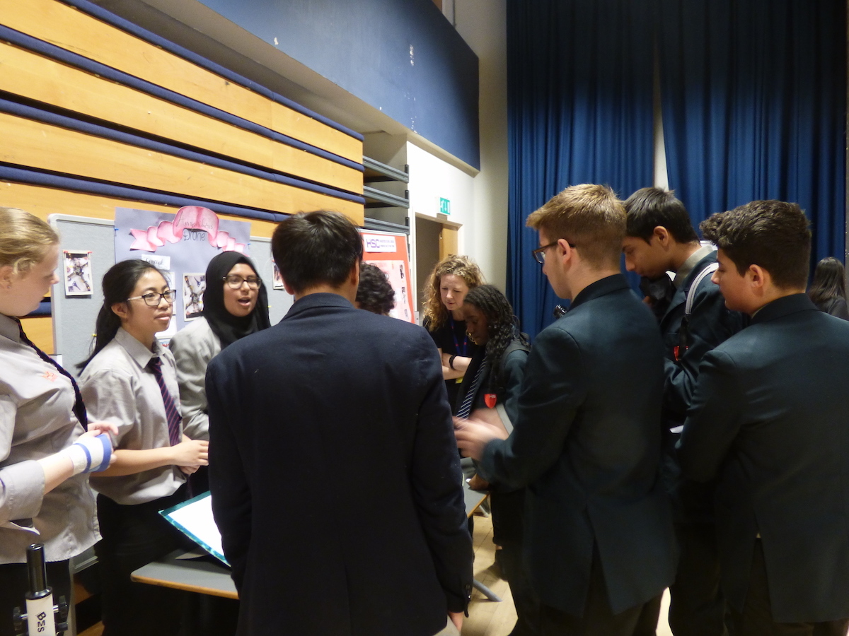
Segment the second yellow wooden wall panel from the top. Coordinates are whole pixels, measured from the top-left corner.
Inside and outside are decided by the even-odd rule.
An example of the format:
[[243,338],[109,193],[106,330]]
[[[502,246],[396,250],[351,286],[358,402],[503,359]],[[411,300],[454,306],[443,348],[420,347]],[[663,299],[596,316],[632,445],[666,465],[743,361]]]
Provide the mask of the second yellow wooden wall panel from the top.
[[0,42],[0,90],[350,192],[363,173]]

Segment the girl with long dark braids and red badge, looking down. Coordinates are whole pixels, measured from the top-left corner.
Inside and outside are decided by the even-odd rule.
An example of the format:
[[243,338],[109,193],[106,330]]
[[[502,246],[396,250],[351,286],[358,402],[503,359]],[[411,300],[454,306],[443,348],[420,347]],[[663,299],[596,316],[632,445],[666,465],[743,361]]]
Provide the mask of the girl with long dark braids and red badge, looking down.
[[[463,317],[469,338],[478,345],[460,387],[458,417],[469,417],[472,410],[492,409],[502,404],[511,421],[517,416],[525,363],[531,345],[520,332],[519,320],[513,315],[504,294],[493,285],[469,289],[463,304]],[[475,416],[481,416],[479,410]],[[482,419],[491,421],[489,417]],[[477,477],[477,476],[475,476]],[[481,480],[482,481],[482,480]],[[478,488],[469,483],[472,488]],[[482,484],[486,488],[486,483]],[[516,624],[511,636],[534,636],[539,633],[539,600],[522,565],[522,510],[525,488],[508,491],[490,484],[492,508],[492,541],[501,547],[496,558],[513,594]]]

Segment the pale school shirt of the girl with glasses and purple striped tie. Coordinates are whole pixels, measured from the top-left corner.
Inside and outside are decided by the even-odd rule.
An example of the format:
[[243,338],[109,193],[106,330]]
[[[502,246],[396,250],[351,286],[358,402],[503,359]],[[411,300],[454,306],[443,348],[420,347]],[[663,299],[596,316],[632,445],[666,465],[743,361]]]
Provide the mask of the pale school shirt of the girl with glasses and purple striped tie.
[[[118,427],[115,449],[147,450],[170,446],[168,418],[159,384],[147,369],[151,358],[162,360],[162,377],[174,404],[180,403],[174,356],[159,342],[148,349],[124,329],[88,363],[80,376],[80,391],[89,420]],[[181,425],[181,436],[183,427]],[[160,466],[123,477],[94,473],[92,487],[118,504],[144,504],[174,494],[186,481],[177,466]]]

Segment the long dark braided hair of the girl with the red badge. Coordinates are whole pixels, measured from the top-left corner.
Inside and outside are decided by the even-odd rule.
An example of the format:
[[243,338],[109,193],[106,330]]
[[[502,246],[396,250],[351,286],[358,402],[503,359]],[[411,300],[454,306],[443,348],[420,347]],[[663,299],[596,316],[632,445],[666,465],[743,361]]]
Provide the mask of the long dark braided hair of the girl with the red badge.
[[486,357],[489,365],[489,392],[498,393],[503,389],[501,359],[509,343],[518,340],[530,349],[531,343],[525,333],[520,332],[519,319],[513,315],[513,307],[504,294],[495,285],[480,285],[469,290],[465,301],[474,305],[486,318]]

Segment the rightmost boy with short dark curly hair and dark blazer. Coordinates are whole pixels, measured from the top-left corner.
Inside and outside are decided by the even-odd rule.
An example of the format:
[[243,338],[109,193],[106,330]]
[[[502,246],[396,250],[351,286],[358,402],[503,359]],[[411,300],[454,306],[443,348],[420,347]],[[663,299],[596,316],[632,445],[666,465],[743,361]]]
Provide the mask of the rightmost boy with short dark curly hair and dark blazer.
[[735,636],[846,634],[849,324],[805,294],[797,204],[754,201],[701,224],[713,279],[751,325],[705,355],[678,442],[683,475],[717,480],[722,589]]

